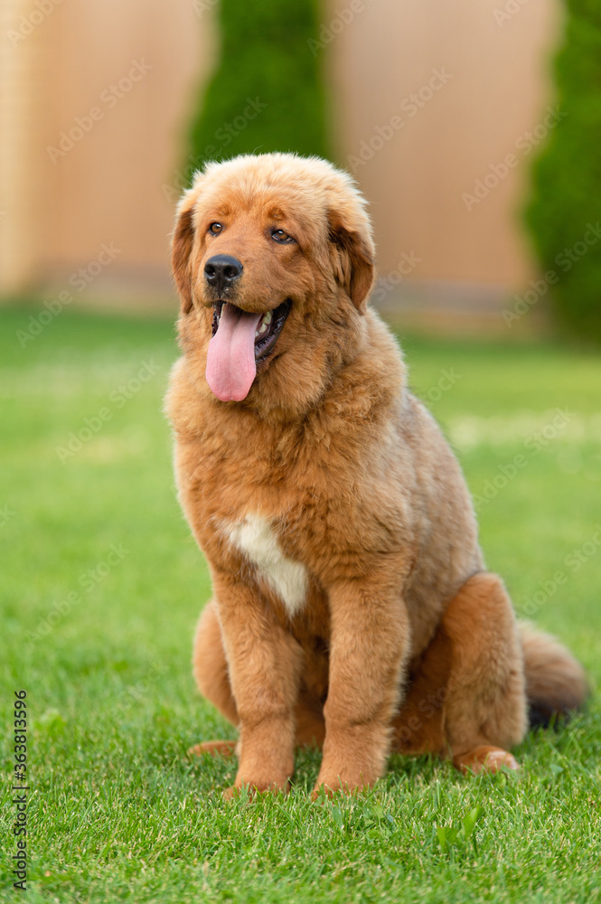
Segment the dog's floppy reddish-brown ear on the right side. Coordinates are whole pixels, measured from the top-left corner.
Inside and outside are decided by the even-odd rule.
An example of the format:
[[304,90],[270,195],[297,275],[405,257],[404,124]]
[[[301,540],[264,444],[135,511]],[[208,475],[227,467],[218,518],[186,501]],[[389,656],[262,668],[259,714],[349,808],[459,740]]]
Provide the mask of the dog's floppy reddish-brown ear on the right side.
[[[355,224],[353,224],[354,226]],[[339,258],[339,277],[353,305],[362,314],[375,275],[375,249],[369,231],[369,222],[353,228],[346,225],[339,212],[328,214],[329,240],[335,246]]]

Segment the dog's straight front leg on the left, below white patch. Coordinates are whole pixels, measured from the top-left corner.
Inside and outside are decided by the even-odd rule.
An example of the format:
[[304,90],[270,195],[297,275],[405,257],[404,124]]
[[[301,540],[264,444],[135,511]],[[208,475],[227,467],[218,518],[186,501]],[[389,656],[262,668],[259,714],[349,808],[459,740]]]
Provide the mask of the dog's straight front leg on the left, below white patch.
[[243,785],[286,790],[302,649],[247,584],[217,570],[213,580],[240,732],[238,773],[225,796]]

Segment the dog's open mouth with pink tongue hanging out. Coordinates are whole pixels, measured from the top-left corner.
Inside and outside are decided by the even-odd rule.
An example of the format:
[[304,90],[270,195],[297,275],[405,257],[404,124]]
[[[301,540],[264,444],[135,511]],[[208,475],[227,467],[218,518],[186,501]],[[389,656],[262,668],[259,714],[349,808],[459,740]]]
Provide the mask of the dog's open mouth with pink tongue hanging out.
[[229,302],[215,302],[206,378],[218,399],[246,399],[257,365],[272,353],[291,305],[286,298],[273,311],[261,314],[243,311]]

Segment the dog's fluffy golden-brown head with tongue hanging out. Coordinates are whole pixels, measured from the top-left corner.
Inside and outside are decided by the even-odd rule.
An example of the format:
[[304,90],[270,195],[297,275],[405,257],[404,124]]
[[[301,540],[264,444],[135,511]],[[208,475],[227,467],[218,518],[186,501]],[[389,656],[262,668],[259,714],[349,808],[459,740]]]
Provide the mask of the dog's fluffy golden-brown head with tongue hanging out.
[[351,177],[317,158],[242,155],[196,174],[173,268],[184,352],[217,399],[268,393],[298,408],[323,391],[361,332],[373,281],[364,208]]

